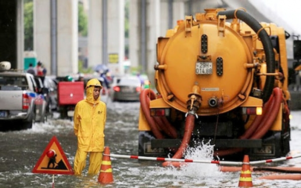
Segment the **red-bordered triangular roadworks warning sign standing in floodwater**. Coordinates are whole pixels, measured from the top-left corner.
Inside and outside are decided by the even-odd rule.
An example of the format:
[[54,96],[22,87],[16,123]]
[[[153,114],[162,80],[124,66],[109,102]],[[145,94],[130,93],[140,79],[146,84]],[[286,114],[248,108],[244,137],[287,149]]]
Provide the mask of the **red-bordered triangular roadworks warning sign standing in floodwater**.
[[56,136],[51,138],[32,172],[74,174],[73,169]]

